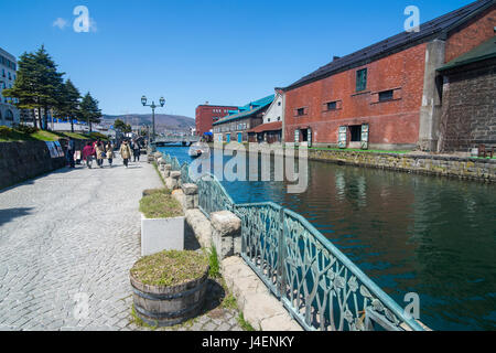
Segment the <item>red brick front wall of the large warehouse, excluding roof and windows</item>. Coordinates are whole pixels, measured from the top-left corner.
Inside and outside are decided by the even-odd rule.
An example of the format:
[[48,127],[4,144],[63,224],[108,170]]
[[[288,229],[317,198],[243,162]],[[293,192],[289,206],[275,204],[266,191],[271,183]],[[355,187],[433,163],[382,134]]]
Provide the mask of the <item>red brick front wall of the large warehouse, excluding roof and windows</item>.
[[[339,126],[369,124],[370,146],[416,145],[422,103],[425,44],[410,47],[334,76],[287,92],[285,140],[310,127],[315,143],[336,145]],[[367,88],[356,92],[356,72],[367,68]],[[379,103],[378,93],[393,89],[393,100]],[[337,110],[326,111],[337,100]],[[296,117],[299,108],[306,108]]]

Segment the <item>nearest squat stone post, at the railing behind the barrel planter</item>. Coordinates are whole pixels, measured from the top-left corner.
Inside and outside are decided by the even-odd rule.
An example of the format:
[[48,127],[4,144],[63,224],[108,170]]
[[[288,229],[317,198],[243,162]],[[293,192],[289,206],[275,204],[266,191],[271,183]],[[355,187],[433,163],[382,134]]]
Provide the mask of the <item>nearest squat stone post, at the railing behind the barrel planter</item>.
[[241,254],[241,220],[230,211],[214,212],[211,214],[212,243],[218,259]]

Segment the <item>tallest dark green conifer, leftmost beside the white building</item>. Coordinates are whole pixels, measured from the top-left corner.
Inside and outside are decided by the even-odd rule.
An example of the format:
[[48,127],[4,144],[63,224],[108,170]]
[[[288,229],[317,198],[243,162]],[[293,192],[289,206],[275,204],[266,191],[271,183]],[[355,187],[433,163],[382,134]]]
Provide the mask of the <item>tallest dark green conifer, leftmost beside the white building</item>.
[[[50,109],[57,104],[57,95],[63,84],[63,73],[57,72],[57,65],[42,45],[34,54],[24,53],[18,62],[19,71],[12,88],[4,89],[4,97],[17,98],[15,105],[20,109],[44,109],[44,125],[47,127]],[[36,121],[34,121],[36,126]]]

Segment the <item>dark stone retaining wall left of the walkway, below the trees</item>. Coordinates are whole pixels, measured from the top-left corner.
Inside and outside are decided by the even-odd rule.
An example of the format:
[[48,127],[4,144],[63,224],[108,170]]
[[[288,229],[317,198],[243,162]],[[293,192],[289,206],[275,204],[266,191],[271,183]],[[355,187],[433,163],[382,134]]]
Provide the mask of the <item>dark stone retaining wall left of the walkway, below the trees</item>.
[[0,190],[64,167],[44,141],[0,142]]

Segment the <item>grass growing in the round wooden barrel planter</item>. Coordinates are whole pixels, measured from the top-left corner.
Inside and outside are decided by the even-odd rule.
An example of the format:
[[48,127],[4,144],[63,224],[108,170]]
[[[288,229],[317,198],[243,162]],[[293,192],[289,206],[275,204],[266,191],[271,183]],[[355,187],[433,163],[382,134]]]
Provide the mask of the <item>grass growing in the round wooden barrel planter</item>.
[[131,268],[131,275],[149,286],[177,286],[203,276],[208,259],[196,252],[161,252],[145,256]]

